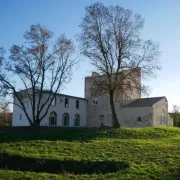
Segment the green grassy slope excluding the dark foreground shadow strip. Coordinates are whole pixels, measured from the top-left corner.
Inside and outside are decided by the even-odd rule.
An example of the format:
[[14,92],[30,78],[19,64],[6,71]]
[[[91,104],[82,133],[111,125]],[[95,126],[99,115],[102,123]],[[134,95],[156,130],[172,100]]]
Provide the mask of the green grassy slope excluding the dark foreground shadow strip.
[[1,179],[180,179],[180,129],[53,128],[0,134],[0,153],[74,161],[125,161],[127,170],[102,175],[0,171]]

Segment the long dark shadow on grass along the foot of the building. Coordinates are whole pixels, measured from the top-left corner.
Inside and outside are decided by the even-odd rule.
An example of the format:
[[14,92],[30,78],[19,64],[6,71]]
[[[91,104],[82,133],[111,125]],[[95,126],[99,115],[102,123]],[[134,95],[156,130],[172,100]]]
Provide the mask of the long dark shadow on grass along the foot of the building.
[[89,141],[107,137],[110,128],[81,128],[81,127],[9,127],[0,129],[0,142],[20,142],[30,140],[49,141]]

